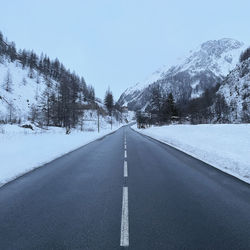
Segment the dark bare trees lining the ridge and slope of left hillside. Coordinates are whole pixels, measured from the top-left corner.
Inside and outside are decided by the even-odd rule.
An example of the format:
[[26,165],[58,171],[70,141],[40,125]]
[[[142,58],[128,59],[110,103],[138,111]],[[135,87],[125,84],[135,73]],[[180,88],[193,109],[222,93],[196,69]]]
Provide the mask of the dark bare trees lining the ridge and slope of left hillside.
[[[36,71],[46,82],[39,105],[31,107],[32,121],[47,126],[75,127],[83,115],[86,103],[96,108],[94,88],[87,85],[83,77],[66,69],[58,59],[51,60],[43,53],[38,56],[25,49],[17,51],[15,44],[8,42],[0,32],[0,60],[4,58],[11,62],[18,61],[22,68],[28,69],[30,78],[36,77]],[[9,71],[3,85],[6,91],[12,91]]]

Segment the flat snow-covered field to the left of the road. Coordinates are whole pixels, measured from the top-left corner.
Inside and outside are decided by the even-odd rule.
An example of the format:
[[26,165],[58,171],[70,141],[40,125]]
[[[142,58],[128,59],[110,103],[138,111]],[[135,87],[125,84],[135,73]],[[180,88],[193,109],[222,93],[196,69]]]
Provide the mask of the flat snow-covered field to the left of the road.
[[63,128],[35,127],[32,131],[18,125],[0,125],[0,186],[118,128],[114,124],[113,130],[106,126],[100,133],[73,130],[66,135]]

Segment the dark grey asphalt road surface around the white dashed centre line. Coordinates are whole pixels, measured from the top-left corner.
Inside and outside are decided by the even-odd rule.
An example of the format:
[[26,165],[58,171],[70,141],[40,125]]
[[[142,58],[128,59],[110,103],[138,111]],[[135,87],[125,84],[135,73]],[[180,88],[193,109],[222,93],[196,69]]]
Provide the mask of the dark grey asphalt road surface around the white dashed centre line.
[[124,183],[128,249],[250,249],[250,185],[129,127],[0,188],[0,249],[121,249]]

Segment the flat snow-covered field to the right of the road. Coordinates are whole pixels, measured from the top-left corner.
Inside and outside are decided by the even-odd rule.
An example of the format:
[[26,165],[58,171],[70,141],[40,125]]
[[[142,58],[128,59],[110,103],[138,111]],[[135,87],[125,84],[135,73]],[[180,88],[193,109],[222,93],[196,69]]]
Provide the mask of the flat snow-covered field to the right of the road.
[[250,183],[250,124],[169,125],[133,129]]

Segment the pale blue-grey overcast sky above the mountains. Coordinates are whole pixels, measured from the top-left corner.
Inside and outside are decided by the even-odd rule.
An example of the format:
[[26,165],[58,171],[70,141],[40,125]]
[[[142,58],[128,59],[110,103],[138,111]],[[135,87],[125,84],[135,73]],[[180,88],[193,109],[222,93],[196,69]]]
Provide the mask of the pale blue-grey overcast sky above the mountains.
[[0,30],[17,48],[58,57],[115,98],[200,43],[250,43],[249,0],[0,0]]

